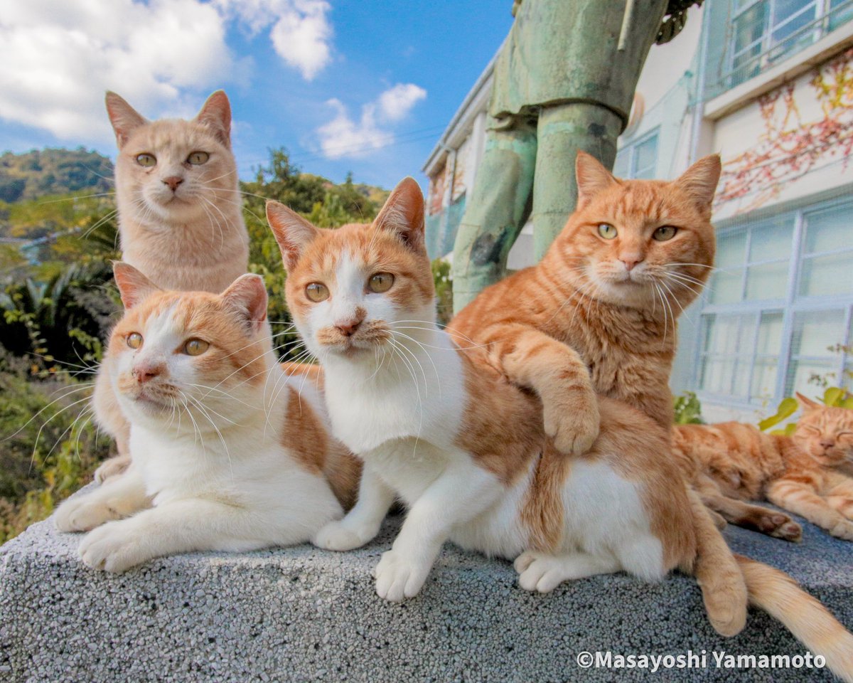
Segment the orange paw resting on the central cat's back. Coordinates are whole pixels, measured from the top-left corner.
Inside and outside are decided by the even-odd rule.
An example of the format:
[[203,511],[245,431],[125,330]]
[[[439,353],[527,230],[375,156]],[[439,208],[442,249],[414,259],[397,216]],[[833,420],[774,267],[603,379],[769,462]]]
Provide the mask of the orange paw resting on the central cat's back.
[[543,400],[545,433],[554,439],[554,447],[563,453],[583,455],[598,438],[601,417],[595,394],[562,392]]

